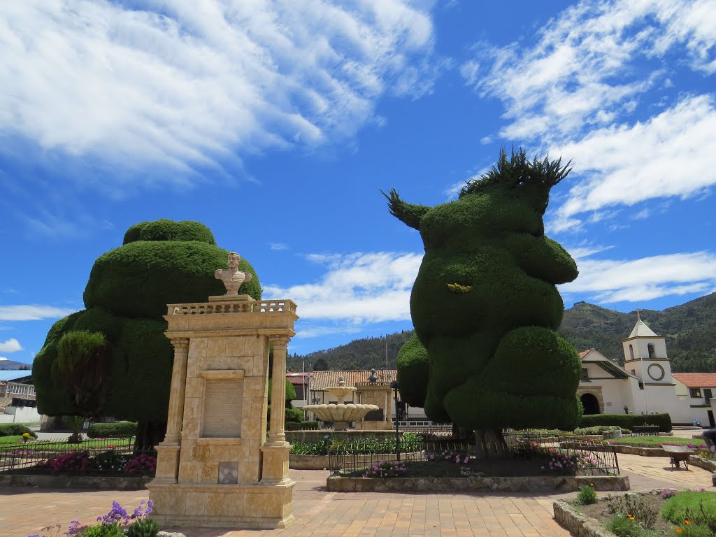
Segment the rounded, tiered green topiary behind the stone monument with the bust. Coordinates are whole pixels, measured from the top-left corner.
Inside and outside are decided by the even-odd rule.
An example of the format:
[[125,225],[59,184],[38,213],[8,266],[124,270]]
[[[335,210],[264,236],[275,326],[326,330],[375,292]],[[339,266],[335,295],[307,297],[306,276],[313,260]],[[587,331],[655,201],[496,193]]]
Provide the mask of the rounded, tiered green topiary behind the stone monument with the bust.
[[[142,222],[120,248],[95,261],[84,306],[57,321],[34,359],[39,412],[112,416],[140,422],[146,443],[162,439],[167,419],[173,347],[164,335],[167,304],[205,302],[226,293],[214,271],[228,251],[198,222]],[[261,299],[253,275],[240,293]]]

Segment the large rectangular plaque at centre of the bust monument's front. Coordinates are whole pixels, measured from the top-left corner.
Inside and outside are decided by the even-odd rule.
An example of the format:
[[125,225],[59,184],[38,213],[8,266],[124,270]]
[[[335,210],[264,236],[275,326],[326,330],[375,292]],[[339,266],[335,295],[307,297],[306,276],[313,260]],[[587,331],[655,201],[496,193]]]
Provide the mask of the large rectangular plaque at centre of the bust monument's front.
[[208,379],[204,389],[204,438],[241,437],[243,379]]

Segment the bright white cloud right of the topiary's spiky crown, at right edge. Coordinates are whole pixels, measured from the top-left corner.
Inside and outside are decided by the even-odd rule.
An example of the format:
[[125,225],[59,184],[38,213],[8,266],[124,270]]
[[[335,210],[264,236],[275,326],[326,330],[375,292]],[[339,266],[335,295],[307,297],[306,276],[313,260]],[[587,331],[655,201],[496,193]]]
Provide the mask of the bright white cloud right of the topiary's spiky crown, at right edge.
[[[566,230],[575,227],[579,213],[705,192],[716,185],[714,132],[713,100],[686,97],[646,122],[605,127],[557,147],[553,152],[569,155],[584,178],[569,190],[551,226]],[[644,216],[640,208],[632,218]]]

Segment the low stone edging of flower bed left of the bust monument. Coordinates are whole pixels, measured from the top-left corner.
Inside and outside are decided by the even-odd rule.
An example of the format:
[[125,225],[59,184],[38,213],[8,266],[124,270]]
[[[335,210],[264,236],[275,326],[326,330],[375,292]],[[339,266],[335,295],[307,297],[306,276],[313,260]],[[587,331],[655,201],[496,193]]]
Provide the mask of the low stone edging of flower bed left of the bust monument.
[[21,487],[33,486],[39,488],[90,488],[102,490],[142,490],[147,488],[154,478],[152,476],[132,477],[102,477],[101,475],[41,475],[41,474],[11,474],[0,475],[0,486]]

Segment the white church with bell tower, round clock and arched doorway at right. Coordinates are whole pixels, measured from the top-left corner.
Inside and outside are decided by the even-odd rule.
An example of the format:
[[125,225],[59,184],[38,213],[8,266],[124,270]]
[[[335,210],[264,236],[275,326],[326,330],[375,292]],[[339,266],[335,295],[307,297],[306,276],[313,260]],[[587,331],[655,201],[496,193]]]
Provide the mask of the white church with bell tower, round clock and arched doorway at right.
[[624,367],[594,349],[581,352],[577,395],[585,414],[662,414],[674,424],[715,427],[712,394],[716,373],[674,373],[666,338],[654,334],[637,312],[637,324],[622,340]]

